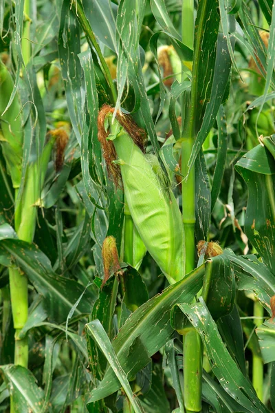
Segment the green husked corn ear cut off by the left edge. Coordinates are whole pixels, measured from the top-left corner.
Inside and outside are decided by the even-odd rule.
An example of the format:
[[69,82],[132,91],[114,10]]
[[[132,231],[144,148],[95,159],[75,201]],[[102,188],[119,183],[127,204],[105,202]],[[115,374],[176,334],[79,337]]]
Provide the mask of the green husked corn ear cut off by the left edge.
[[[19,188],[23,157],[23,129],[21,126],[21,105],[17,95],[12,105],[3,114],[12,94],[14,82],[7,67],[0,61],[0,123],[1,146],[14,188]],[[3,115],[2,115],[3,114]]]

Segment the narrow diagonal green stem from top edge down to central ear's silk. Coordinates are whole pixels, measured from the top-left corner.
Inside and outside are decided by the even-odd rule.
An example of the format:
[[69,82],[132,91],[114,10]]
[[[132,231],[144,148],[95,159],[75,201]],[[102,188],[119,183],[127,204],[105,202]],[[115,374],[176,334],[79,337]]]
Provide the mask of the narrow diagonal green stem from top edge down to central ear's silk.
[[85,12],[83,10],[83,5],[81,1],[72,1],[71,3],[72,10],[74,11],[74,14],[76,14],[76,18],[80,22],[81,27],[83,28],[83,31],[85,32],[87,42],[89,43],[89,46],[92,48],[94,47],[98,57],[100,59],[100,63],[102,65],[102,69],[104,71],[104,76],[107,80],[107,83],[109,84],[109,87],[111,88],[111,94],[112,94],[112,99],[113,99],[113,104],[115,105],[116,99],[118,97],[118,94],[115,89],[115,85],[113,84],[113,79],[111,78],[111,73],[109,71],[109,67],[104,59],[104,56],[100,50],[100,47],[98,45],[98,42],[96,41],[96,36],[94,35],[93,30],[91,30],[91,25],[89,21],[87,20],[85,16]]

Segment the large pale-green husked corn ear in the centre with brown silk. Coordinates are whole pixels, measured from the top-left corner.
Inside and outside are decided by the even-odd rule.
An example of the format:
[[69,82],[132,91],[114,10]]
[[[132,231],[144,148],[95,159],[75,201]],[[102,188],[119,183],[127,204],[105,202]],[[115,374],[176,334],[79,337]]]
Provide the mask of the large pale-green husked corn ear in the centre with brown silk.
[[[107,125],[109,123],[109,125]],[[142,150],[112,114],[105,118],[120,165],[129,211],[148,252],[170,283],[184,276],[184,230],[177,201],[164,187],[161,167]]]

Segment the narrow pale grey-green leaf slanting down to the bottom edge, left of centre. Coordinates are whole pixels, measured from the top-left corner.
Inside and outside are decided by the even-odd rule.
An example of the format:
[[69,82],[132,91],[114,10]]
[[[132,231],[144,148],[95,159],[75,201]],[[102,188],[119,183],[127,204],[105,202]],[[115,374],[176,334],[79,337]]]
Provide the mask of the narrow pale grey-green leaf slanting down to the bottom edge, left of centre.
[[[111,341],[109,341],[109,337],[107,336],[102,324],[99,320],[91,321],[89,324],[86,324],[87,332],[93,339],[96,341],[97,345],[100,347],[100,350],[104,353],[104,356],[107,358],[109,365],[115,372],[115,376],[118,377],[120,384],[122,385],[124,392],[126,393],[131,405],[133,406],[133,410],[135,413],[142,413],[143,409],[138,402],[138,399],[133,396],[133,392],[131,390],[131,386],[129,385],[129,381],[127,380],[127,376],[120,366],[118,358],[113,350],[111,345]],[[92,403],[92,402],[91,402]],[[89,403],[87,404],[89,409]]]

